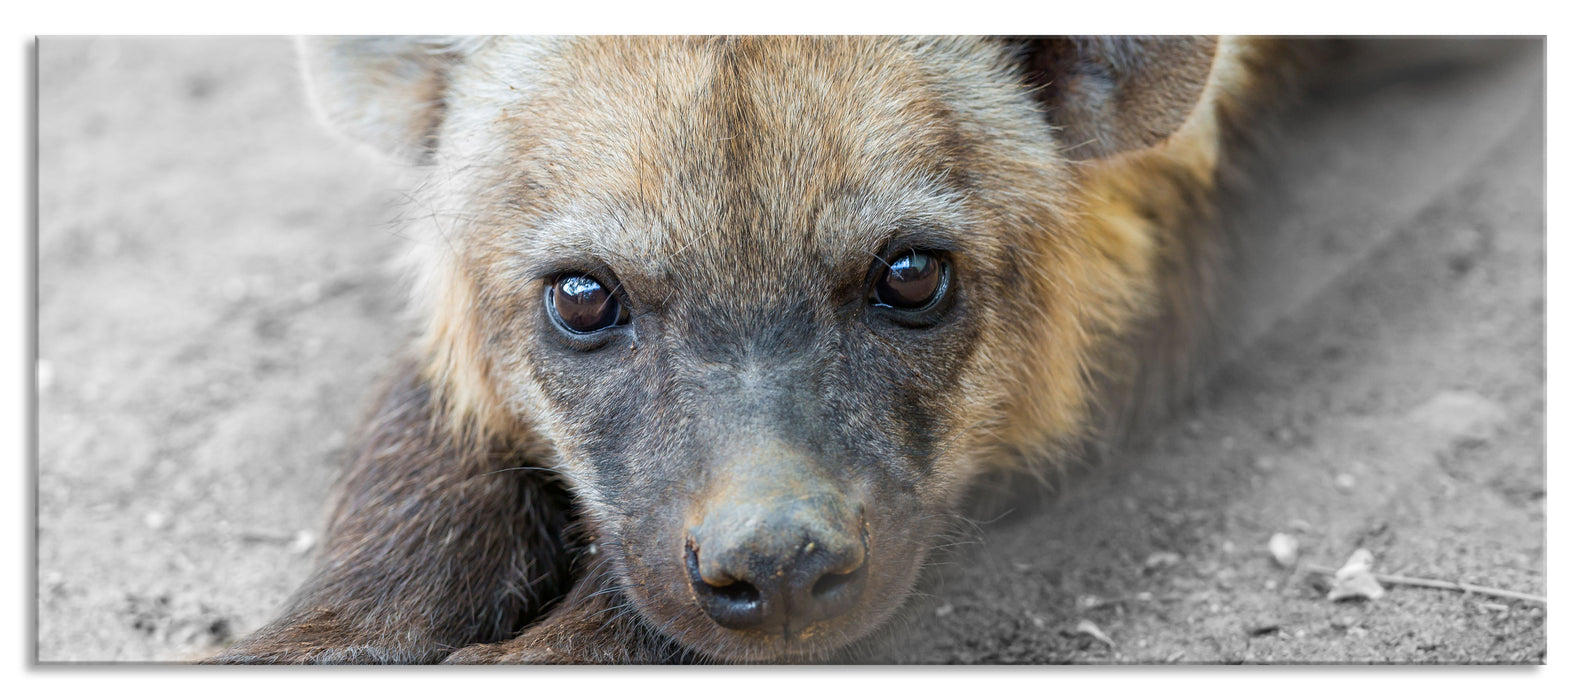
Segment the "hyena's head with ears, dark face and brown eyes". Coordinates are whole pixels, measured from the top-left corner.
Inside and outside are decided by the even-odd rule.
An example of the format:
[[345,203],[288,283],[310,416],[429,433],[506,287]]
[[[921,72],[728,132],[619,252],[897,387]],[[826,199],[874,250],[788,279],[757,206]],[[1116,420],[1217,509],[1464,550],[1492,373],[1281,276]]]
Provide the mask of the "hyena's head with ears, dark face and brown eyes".
[[1213,41],[329,40],[324,116],[419,163],[456,429],[554,448],[634,614],[807,659],[906,595],[971,477],[1076,436],[1147,241],[1074,158],[1152,144]]

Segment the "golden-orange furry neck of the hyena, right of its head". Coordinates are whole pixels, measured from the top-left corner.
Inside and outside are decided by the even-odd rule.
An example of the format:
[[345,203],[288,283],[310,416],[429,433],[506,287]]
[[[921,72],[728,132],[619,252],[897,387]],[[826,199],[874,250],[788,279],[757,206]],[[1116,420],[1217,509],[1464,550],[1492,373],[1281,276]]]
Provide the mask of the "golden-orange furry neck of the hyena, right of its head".
[[1130,317],[1099,334],[1090,353],[1084,428],[1016,459],[1104,461],[1169,421],[1220,371],[1234,348],[1237,241],[1224,212],[1247,190],[1247,171],[1269,141],[1272,119],[1297,98],[1300,68],[1318,43],[1221,40],[1209,86],[1186,124],[1164,143],[1087,163],[1081,171],[1081,236],[1125,260],[1136,296]]

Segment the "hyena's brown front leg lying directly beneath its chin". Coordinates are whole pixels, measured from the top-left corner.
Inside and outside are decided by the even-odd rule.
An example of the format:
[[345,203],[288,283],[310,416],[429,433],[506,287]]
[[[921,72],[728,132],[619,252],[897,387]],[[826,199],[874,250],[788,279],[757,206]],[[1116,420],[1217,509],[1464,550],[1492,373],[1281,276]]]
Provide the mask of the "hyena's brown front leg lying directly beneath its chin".
[[584,576],[520,637],[456,651],[445,664],[683,664],[696,662],[655,633],[604,576]]

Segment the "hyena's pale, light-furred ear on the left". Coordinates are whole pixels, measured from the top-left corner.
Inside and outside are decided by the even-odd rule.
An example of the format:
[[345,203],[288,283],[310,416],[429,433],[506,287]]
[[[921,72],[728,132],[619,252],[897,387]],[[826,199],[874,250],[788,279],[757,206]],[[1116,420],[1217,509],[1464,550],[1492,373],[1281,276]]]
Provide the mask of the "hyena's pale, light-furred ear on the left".
[[478,40],[456,36],[304,36],[308,93],[323,119],[410,163],[433,155],[451,68]]

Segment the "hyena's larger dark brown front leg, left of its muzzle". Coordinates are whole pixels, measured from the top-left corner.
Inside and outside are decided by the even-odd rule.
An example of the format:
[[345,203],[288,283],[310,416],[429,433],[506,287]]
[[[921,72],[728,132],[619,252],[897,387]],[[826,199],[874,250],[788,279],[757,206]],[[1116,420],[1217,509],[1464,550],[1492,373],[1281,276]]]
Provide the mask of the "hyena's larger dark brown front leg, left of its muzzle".
[[568,588],[566,493],[533,448],[459,440],[405,367],[342,486],[318,569],[210,664],[432,664],[509,638]]

